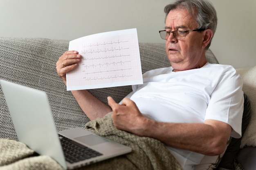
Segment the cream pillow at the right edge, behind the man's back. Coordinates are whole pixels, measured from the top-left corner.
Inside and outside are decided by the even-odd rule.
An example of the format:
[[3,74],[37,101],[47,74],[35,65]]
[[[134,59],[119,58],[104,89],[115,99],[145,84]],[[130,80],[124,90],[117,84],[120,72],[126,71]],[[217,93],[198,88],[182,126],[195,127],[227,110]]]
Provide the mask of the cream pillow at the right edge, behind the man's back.
[[252,68],[236,69],[243,79],[243,92],[247,94],[251,103],[251,120],[242,137],[240,148],[256,147],[256,66]]

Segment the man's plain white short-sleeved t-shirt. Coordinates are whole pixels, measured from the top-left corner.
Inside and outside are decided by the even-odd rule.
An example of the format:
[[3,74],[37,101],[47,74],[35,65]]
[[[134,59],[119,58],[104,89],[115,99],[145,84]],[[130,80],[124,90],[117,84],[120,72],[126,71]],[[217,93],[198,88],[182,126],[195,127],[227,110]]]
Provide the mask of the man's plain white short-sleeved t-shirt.
[[[149,119],[173,123],[204,123],[214,119],[241,136],[243,82],[229,65],[207,63],[200,69],[172,72],[172,67],[143,74],[142,85],[133,85],[128,96]],[[193,170],[203,154],[166,146],[185,170]],[[213,163],[216,157],[212,157]],[[202,163],[202,162],[201,162]]]

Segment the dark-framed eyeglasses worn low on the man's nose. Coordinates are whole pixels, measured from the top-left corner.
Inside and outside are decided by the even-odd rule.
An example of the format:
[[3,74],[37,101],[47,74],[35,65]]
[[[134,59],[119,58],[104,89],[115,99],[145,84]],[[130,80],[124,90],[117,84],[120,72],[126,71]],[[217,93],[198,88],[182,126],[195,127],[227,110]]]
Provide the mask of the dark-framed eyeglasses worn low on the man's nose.
[[171,33],[173,33],[173,36],[176,40],[182,40],[184,38],[186,38],[186,35],[188,32],[192,32],[192,31],[204,31],[205,29],[201,28],[201,29],[194,29],[194,30],[177,30],[177,31],[166,31],[166,30],[162,30],[159,31],[160,37],[164,40],[167,40],[168,37],[170,36]]

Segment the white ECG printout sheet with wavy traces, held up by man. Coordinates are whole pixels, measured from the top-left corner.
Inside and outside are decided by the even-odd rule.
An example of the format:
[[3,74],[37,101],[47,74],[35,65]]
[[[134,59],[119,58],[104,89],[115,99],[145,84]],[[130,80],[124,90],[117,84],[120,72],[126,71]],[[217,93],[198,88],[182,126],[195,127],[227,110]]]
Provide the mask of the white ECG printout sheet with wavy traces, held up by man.
[[82,56],[66,74],[67,90],[142,84],[137,29],[93,34],[70,41],[69,50]]

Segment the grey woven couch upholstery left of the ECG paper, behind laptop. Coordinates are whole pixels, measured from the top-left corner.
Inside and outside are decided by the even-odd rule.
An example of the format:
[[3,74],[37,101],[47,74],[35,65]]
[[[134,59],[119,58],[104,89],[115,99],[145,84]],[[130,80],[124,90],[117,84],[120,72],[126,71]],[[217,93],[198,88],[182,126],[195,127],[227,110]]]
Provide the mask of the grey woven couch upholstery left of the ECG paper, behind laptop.
[[[0,78],[45,91],[57,130],[81,127],[88,121],[56,73],[56,61],[66,49],[68,41],[62,40],[0,39]],[[2,89],[0,98],[0,138],[17,139]]]

